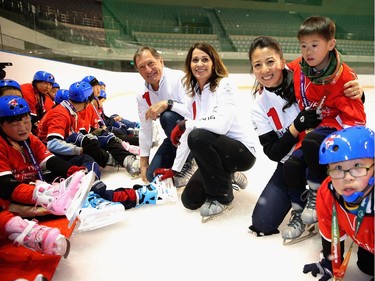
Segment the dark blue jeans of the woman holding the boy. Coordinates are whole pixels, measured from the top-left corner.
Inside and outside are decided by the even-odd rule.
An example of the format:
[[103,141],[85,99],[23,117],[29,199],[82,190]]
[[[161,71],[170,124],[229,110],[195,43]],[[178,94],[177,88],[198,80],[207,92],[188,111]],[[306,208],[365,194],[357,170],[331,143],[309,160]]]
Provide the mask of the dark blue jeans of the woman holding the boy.
[[288,188],[284,182],[283,164],[278,163],[275,172],[263,189],[252,214],[251,229],[265,235],[278,233],[278,227],[288,214],[291,203],[304,208],[301,200],[305,188]]

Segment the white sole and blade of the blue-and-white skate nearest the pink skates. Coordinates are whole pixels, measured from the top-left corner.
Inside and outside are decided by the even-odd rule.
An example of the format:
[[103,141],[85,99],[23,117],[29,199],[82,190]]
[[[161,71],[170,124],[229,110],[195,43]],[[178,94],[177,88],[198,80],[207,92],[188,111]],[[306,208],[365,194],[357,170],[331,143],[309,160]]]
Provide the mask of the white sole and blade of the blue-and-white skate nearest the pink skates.
[[95,215],[86,217],[83,221],[78,222],[78,226],[74,231],[74,234],[79,234],[83,232],[92,231],[95,229],[103,228],[120,221],[123,221],[127,218],[126,211],[122,211],[121,214],[107,213],[102,214],[99,218]]

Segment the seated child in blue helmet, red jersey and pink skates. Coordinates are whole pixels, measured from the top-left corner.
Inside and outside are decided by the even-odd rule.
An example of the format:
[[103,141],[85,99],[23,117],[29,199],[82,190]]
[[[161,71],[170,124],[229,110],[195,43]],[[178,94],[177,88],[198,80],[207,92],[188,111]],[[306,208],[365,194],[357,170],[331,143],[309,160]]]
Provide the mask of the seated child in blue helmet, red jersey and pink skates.
[[[80,184],[85,167],[55,157],[31,134],[31,126],[30,108],[23,98],[0,97],[0,235],[17,246],[66,256],[69,243],[57,228],[17,214],[68,217],[68,212],[76,213],[89,188]],[[48,170],[68,179],[50,184],[45,181]]]

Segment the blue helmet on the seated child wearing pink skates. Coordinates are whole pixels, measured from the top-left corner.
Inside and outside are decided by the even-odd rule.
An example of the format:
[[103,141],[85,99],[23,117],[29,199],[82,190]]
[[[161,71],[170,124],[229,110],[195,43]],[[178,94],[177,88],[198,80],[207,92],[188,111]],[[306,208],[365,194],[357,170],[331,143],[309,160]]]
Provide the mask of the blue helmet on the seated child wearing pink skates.
[[27,102],[19,96],[0,97],[0,117],[12,117],[29,113]]

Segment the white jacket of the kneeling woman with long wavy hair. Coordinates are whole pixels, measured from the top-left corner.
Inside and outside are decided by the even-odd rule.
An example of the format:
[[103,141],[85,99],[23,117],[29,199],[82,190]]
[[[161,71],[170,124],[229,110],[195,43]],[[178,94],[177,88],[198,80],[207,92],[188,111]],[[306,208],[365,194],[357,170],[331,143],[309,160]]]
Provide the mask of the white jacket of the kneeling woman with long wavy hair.
[[223,78],[215,92],[211,92],[209,84],[204,86],[202,93],[199,93],[199,88],[195,88],[195,95],[188,97],[186,131],[180,139],[172,166],[174,171],[181,171],[190,153],[187,137],[195,128],[203,128],[238,140],[255,156],[256,134],[250,118],[247,118],[250,115],[241,115],[237,102],[236,87],[229,78]]

